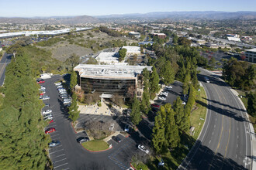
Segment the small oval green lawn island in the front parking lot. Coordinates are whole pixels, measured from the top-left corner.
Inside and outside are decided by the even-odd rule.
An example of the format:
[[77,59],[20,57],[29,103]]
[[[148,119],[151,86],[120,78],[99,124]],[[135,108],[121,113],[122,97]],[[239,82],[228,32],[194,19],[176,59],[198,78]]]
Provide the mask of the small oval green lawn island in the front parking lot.
[[109,148],[109,144],[102,140],[93,140],[82,143],[90,151],[102,151]]

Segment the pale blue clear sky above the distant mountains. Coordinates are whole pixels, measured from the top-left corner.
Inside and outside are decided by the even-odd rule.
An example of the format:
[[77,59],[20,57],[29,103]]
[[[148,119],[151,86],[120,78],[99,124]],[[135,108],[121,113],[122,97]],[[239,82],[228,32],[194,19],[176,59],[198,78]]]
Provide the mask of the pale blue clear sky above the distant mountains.
[[0,17],[256,11],[255,0],[0,0]]

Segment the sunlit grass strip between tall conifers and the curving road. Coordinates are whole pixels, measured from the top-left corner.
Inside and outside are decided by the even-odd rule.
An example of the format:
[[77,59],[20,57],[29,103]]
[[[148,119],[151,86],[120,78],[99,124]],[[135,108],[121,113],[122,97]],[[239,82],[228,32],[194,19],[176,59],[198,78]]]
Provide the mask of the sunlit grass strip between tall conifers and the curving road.
[[[196,107],[197,110],[194,110],[190,116],[191,126],[195,127],[195,134],[192,136],[195,140],[198,138],[200,131],[202,130],[202,126],[204,121],[206,120],[206,92],[203,87],[200,87],[201,91],[197,92],[196,97]],[[200,119],[201,118],[201,119]]]

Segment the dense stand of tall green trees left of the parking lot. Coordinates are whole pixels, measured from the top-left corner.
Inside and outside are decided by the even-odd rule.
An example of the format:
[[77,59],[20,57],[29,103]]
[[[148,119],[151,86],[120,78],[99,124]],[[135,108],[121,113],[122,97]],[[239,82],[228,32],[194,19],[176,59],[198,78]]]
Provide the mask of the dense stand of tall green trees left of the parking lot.
[[[40,114],[42,103],[30,61],[17,53],[5,72],[5,98],[0,110],[0,167],[45,169],[47,143]],[[49,168],[49,167],[48,167]]]

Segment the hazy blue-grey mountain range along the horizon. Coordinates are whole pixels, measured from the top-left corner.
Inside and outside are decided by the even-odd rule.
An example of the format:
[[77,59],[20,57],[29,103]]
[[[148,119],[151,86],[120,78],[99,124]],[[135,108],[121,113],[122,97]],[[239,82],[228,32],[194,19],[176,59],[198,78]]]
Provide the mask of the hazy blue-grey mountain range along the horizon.
[[149,12],[145,14],[100,15],[100,16],[51,16],[31,18],[4,18],[0,17],[0,23],[17,24],[85,24],[99,22],[118,22],[127,19],[139,19],[152,21],[157,19],[256,19],[256,12]]

